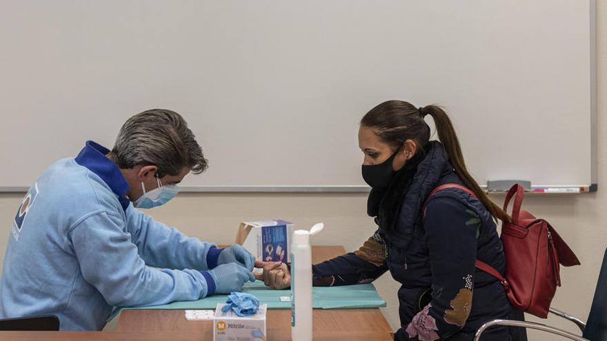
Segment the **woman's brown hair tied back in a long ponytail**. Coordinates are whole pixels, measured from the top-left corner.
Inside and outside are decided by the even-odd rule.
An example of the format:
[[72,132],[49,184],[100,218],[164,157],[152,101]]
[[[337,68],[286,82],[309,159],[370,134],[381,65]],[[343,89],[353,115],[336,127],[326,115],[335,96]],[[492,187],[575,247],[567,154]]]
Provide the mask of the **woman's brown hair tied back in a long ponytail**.
[[477,198],[488,209],[490,214],[502,221],[510,221],[510,216],[504,209],[495,205],[481,189],[479,184],[468,173],[464,156],[461,154],[459,139],[449,116],[437,105],[428,105],[417,109],[414,105],[404,101],[386,101],[370,110],[362,119],[361,125],[377,129],[379,138],[397,149],[407,140],[417,143],[419,152],[430,140],[430,127],[424,121],[424,116],[430,115],[434,119],[439,140],[444,145],[449,161],[455,169],[455,174],[461,181],[475,192]]

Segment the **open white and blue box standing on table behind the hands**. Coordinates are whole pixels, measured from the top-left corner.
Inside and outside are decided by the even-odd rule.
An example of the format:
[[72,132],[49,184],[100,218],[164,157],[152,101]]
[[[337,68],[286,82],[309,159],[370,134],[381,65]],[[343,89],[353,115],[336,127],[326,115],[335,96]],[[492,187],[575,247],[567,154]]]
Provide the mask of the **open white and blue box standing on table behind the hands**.
[[293,223],[285,220],[246,221],[240,223],[236,243],[247,249],[257,260],[291,262]]

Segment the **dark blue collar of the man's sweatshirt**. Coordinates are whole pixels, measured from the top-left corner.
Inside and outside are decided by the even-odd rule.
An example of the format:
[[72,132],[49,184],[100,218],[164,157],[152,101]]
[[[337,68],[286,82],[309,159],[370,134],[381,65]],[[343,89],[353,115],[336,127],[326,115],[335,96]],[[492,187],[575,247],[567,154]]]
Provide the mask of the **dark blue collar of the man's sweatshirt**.
[[97,174],[103,180],[112,192],[118,196],[118,201],[122,205],[122,209],[126,210],[130,204],[130,200],[125,198],[128,192],[129,185],[124,176],[120,172],[118,166],[113,163],[107,156],[110,149],[99,145],[93,141],[86,141],[86,145],[76,156],[75,161],[79,165],[88,168],[94,174]]

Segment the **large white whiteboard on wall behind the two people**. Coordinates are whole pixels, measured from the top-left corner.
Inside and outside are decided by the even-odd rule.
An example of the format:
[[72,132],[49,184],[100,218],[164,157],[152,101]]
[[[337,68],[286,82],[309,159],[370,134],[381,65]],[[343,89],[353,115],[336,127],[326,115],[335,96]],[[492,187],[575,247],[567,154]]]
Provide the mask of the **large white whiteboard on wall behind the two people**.
[[186,186],[364,185],[359,119],[388,99],[444,105],[481,184],[590,185],[593,6],[0,1],[0,189],[154,107],[210,160]]

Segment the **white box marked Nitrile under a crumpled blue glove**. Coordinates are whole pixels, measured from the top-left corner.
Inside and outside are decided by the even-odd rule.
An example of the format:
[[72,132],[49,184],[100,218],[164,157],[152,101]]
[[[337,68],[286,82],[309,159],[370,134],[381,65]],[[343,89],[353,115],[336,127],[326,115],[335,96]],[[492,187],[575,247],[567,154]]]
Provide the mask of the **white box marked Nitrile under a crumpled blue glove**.
[[266,340],[266,311],[268,304],[259,304],[252,316],[238,316],[232,309],[223,312],[226,303],[218,303],[213,319],[215,341],[259,341]]

